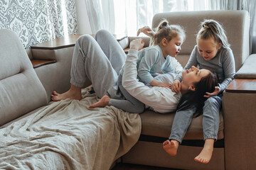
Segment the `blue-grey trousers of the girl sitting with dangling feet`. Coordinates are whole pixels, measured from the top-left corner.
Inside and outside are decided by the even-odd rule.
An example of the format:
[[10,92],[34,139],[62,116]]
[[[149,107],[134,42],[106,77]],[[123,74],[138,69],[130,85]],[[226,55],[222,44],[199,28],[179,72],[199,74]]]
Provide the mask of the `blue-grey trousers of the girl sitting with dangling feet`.
[[[222,96],[211,96],[203,106],[203,138],[215,139],[218,137],[218,128],[220,125],[220,107],[222,104]],[[182,142],[189,125],[196,113],[196,108],[186,111],[177,111],[174,116],[174,122],[171,127],[170,140]]]

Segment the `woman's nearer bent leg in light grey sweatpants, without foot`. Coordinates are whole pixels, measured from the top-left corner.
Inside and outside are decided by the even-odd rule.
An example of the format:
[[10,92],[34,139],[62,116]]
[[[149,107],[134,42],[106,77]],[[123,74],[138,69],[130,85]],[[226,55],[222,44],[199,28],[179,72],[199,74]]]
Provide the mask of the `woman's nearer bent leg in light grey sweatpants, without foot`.
[[92,81],[95,93],[100,98],[112,86],[117,86],[117,72],[90,35],[82,35],[75,44],[70,83],[83,87],[86,79]]

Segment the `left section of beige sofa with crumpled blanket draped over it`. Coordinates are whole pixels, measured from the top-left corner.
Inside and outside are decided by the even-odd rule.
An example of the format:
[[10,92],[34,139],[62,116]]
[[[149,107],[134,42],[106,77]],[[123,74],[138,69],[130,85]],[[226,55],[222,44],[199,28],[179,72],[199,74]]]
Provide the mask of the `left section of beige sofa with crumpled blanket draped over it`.
[[27,55],[16,33],[0,29],[0,169],[110,169],[139,139],[138,114],[88,108],[97,102],[91,87],[81,101],[50,101],[70,88],[74,36]]

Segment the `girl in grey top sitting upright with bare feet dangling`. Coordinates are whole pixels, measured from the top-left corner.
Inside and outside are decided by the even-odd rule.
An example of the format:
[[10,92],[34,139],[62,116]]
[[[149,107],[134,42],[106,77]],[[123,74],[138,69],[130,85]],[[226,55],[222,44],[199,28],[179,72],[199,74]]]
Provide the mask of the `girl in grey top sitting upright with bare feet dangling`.
[[[207,164],[213,154],[213,144],[217,140],[222,93],[235,75],[235,61],[225,30],[217,21],[206,20],[201,23],[201,30],[197,34],[196,42],[197,45],[184,69],[191,68],[191,66],[198,66],[199,69],[210,69],[218,74],[220,84],[215,86],[213,93],[206,93],[206,101],[203,106],[196,106],[196,103],[191,103],[188,98],[183,98],[185,104],[178,107],[171,128],[171,135],[169,140],[163,143],[163,146],[167,153],[172,156],[176,155],[178,145],[183,140],[194,113],[198,108],[203,108],[205,144],[201,153],[194,160]],[[171,86],[172,91],[176,93],[180,91],[181,79],[181,75],[176,77]]]

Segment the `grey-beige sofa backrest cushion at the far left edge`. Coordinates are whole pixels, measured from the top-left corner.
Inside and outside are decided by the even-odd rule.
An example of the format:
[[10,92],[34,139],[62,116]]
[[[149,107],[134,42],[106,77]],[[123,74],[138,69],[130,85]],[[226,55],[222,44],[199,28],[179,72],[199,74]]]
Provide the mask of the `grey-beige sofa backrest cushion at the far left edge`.
[[0,30],[0,125],[47,104],[46,91],[16,33]]

